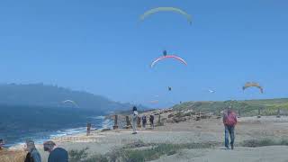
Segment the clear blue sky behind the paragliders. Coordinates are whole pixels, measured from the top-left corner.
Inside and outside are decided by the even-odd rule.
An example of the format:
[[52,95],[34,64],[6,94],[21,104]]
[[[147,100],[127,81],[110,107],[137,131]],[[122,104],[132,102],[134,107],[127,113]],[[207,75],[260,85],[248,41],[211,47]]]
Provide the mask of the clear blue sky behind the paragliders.
[[[165,12],[139,23],[157,6],[179,7],[193,24]],[[285,0],[1,1],[0,82],[60,85],[147,105],[159,100],[151,106],[287,97],[287,7]],[[188,66],[165,60],[151,69],[163,49]],[[247,81],[262,84],[265,94],[243,93]]]

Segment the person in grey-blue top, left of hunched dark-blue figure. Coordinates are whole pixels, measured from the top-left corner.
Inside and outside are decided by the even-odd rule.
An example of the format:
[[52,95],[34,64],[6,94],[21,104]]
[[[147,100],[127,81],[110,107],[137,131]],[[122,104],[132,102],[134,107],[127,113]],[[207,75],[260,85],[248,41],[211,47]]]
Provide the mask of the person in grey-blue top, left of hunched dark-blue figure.
[[40,153],[35,147],[33,140],[26,140],[25,150],[28,151],[24,162],[41,162]]

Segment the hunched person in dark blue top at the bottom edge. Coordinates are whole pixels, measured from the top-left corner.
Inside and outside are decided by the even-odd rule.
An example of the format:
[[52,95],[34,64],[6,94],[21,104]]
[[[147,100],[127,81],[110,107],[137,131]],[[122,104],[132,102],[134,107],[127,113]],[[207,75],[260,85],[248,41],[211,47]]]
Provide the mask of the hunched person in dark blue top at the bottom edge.
[[68,162],[68,153],[64,148],[58,148],[53,141],[44,144],[44,151],[49,152],[48,162]]

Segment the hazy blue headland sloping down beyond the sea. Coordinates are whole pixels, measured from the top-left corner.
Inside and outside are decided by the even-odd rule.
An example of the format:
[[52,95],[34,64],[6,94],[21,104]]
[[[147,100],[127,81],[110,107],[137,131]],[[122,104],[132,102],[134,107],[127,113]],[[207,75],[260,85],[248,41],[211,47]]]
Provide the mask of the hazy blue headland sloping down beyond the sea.
[[[64,101],[73,101],[65,103]],[[57,85],[0,85],[0,103],[6,105],[41,106],[46,108],[79,108],[94,112],[128,110],[130,103],[118,103],[84,91],[73,91]]]

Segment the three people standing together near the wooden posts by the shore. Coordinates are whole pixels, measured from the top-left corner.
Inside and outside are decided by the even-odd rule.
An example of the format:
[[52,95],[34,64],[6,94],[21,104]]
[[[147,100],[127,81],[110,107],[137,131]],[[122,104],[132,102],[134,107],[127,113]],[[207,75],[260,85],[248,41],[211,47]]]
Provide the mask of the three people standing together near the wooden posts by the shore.
[[[133,128],[133,132],[132,134],[137,134],[137,122],[138,122],[138,119],[139,120],[142,120],[142,127],[143,128],[146,128],[146,125],[147,125],[147,117],[146,115],[143,115],[141,118],[139,118],[139,113],[137,111],[137,107],[134,106],[133,109],[133,114],[132,114],[132,128]],[[153,114],[150,114],[149,115],[149,122],[150,122],[150,126],[152,129],[154,129],[154,115]]]

